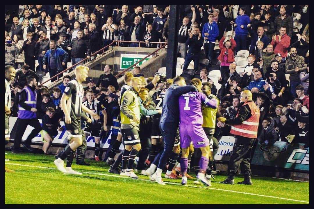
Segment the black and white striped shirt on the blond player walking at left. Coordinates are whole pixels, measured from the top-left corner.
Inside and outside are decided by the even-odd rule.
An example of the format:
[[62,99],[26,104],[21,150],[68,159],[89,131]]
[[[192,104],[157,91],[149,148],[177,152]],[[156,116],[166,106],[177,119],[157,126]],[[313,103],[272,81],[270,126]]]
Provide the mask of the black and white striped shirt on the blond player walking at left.
[[67,100],[67,109],[71,119],[81,120],[82,102],[84,89],[82,84],[79,84],[76,79],[71,80],[65,87],[63,94],[69,96]]

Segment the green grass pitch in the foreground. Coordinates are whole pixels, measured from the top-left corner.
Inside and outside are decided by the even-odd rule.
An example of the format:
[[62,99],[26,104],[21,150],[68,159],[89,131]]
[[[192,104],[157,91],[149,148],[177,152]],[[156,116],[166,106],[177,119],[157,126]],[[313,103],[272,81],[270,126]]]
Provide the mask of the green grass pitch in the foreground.
[[[109,167],[104,162],[86,160],[91,166],[73,164],[74,170],[83,173],[82,176],[74,176],[64,175],[58,171],[51,155],[8,153],[5,157],[10,159],[6,161],[6,166],[16,171],[5,172],[5,204],[308,204],[306,202],[309,202],[309,182],[253,176],[252,186],[224,185],[218,182],[223,181],[226,176],[215,175],[212,187],[209,188],[195,187],[194,180],[188,180],[188,186],[181,186],[179,185],[181,179],[166,178],[163,178],[165,183],[171,184],[162,186],[149,181],[148,176],[140,174],[139,179],[116,177],[118,175],[108,172]],[[235,178],[235,182],[238,181],[242,181],[242,176]]]

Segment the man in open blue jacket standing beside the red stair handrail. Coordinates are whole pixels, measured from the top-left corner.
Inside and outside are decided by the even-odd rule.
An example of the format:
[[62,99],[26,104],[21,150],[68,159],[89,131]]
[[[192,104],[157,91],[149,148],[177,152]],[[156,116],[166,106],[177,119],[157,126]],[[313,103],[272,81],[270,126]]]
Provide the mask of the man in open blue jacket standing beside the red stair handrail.
[[[56,41],[51,40],[49,43],[50,49],[46,52],[44,59],[42,61],[43,68],[48,69],[50,78],[54,75],[60,73],[65,68],[69,54],[62,48],[56,48]],[[57,78],[51,79],[51,82],[57,80]]]

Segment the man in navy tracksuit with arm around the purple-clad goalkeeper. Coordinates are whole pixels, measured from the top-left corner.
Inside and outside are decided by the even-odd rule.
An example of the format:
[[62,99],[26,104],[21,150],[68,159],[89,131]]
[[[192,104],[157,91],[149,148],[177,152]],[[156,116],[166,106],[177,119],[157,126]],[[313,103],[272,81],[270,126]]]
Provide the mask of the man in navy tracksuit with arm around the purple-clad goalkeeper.
[[198,90],[193,85],[186,85],[184,78],[177,76],[173,79],[173,84],[166,91],[162,104],[159,128],[164,140],[164,150],[160,156],[157,171],[152,176],[161,185],[165,185],[161,178],[161,172],[172,153],[175,144],[176,129],[179,125],[179,96],[189,91],[196,92]]

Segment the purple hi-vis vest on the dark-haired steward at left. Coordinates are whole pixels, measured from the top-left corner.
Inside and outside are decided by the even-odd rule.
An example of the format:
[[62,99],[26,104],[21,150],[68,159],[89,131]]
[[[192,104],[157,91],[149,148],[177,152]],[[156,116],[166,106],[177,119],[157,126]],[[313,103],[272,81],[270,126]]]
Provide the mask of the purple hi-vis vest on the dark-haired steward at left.
[[[32,91],[29,87],[25,87],[22,91],[26,91],[26,100],[25,103],[27,105],[30,105],[31,107],[36,108],[36,101],[37,101],[37,94],[35,91]],[[22,92],[21,92],[22,93]],[[32,119],[36,118],[36,113],[25,110],[23,107],[19,105],[19,112],[18,112],[18,118],[21,119]]]

